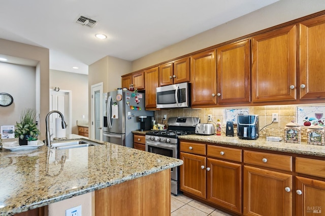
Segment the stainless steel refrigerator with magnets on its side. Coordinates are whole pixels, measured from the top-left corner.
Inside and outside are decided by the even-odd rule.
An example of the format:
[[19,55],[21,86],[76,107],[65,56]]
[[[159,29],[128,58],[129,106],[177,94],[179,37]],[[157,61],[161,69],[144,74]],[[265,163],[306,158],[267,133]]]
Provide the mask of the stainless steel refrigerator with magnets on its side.
[[132,131],[140,129],[139,116],[154,115],[145,110],[145,94],[116,90],[103,97],[103,141],[132,148]]

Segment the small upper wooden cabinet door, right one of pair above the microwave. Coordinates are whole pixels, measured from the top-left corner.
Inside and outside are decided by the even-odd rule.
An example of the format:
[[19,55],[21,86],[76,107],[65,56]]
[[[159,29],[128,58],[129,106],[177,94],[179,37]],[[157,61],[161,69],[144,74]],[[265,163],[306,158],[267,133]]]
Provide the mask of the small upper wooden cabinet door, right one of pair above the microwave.
[[183,58],[174,62],[174,84],[189,82],[189,58]]

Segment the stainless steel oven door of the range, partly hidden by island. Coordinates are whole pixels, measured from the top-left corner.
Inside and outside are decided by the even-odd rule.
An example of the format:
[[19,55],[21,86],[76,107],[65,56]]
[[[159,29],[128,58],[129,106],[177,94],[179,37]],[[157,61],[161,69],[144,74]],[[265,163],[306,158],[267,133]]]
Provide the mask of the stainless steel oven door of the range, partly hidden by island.
[[[178,158],[177,144],[146,140],[146,151],[155,154],[165,155],[168,157]],[[177,172],[178,172],[177,166],[171,168],[171,179],[178,181]]]

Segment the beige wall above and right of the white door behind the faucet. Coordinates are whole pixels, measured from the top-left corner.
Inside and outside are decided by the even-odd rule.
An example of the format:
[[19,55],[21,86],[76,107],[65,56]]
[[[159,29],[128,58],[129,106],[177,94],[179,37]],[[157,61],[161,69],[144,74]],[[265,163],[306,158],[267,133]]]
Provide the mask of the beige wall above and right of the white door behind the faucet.
[[[72,134],[78,134],[77,120],[88,121],[88,75],[50,70],[50,89],[71,91]],[[85,119],[82,119],[82,115]]]

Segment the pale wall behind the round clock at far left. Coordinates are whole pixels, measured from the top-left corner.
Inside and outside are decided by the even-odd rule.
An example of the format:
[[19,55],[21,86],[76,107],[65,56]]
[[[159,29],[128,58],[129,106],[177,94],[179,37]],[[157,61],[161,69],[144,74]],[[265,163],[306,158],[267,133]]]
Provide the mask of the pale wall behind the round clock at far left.
[[36,109],[36,68],[0,62],[0,77],[0,92],[14,98],[10,106],[0,107],[0,125],[15,125],[21,111]]

